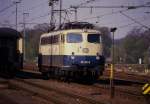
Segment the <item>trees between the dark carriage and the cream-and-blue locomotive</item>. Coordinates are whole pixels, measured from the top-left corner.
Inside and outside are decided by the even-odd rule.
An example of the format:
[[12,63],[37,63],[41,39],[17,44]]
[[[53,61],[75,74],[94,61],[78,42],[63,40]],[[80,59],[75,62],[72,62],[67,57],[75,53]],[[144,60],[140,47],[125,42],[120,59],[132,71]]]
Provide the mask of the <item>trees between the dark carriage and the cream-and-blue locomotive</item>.
[[[39,40],[43,33],[48,32],[49,24],[38,24],[32,29],[26,29],[25,36],[25,60],[27,62],[34,61],[38,56],[39,51]],[[22,32],[23,33],[23,32]]]

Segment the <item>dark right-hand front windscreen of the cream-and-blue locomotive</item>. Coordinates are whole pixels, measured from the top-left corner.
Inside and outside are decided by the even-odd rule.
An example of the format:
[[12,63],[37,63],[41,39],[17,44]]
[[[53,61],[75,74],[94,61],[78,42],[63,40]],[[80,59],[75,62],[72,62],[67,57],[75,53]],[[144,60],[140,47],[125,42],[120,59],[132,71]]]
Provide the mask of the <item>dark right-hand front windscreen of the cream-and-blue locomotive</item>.
[[87,39],[90,43],[101,43],[102,41],[100,34],[88,34]]

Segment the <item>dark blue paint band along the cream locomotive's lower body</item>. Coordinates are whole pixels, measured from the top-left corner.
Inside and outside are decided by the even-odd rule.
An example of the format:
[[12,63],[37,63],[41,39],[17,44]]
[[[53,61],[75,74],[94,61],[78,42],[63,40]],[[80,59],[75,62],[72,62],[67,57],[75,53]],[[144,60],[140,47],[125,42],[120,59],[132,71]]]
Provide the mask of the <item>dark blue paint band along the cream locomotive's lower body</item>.
[[[74,56],[74,59],[72,59],[72,56],[69,55],[42,55],[42,62],[41,64],[50,65],[50,66],[90,66],[95,67],[99,65],[104,64],[104,57],[100,56],[100,59],[97,60],[96,56]],[[52,60],[52,61],[51,61]],[[52,65],[51,65],[52,64]]]

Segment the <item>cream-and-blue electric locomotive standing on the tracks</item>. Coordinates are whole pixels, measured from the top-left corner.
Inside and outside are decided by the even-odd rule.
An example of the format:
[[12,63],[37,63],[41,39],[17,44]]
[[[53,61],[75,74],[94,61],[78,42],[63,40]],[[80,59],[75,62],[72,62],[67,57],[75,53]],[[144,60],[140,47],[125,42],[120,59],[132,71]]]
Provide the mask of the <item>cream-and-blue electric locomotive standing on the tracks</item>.
[[101,33],[68,29],[40,37],[38,66],[44,76],[97,79],[104,71]]

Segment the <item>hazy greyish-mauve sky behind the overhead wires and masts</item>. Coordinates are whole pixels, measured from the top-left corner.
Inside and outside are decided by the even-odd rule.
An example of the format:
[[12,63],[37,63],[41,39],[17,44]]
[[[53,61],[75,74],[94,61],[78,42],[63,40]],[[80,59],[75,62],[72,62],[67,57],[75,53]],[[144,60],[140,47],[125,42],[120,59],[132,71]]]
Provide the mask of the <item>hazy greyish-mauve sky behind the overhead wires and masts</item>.
[[[0,27],[15,28],[15,8],[14,1],[19,0],[0,0]],[[18,29],[23,29],[23,13],[29,13],[24,15],[27,28],[32,28],[39,23],[50,22],[50,7],[48,5],[49,0],[21,0],[18,4]],[[71,5],[77,6],[81,3],[85,3],[89,0],[62,0],[63,9],[69,8]],[[95,0],[93,2],[84,4],[83,6],[136,6],[148,4],[149,0]],[[10,6],[12,5],[12,6]],[[10,8],[7,8],[10,6]],[[59,3],[55,4],[55,9],[59,9]],[[5,9],[7,8],[7,9]],[[97,26],[117,27],[115,32],[115,38],[120,39],[127,35],[133,28],[143,28],[142,25],[134,23],[133,20],[127,18],[121,13],[115,13],[116,11],[125,10],[125,8],[98,8],[98,9],[78,9],[78,21],[86,21],[93,23]],[[150,7],[137,8],[127,10],[123,12],[129,17],[134,18],[147,27],[150,27]],[[109,15],[108,15],[109,14]],[[70,21],[74,21],[74,13],[69,12],[68,16],[63,13],[63,17],[69,18]],[[95,17],[95,18],[94,18]],[[58,21],[58,14],[55,14],[56,24]],[[63,18],[62,18],[63,20]],[[145,28],[146,29],[146,28]]]

